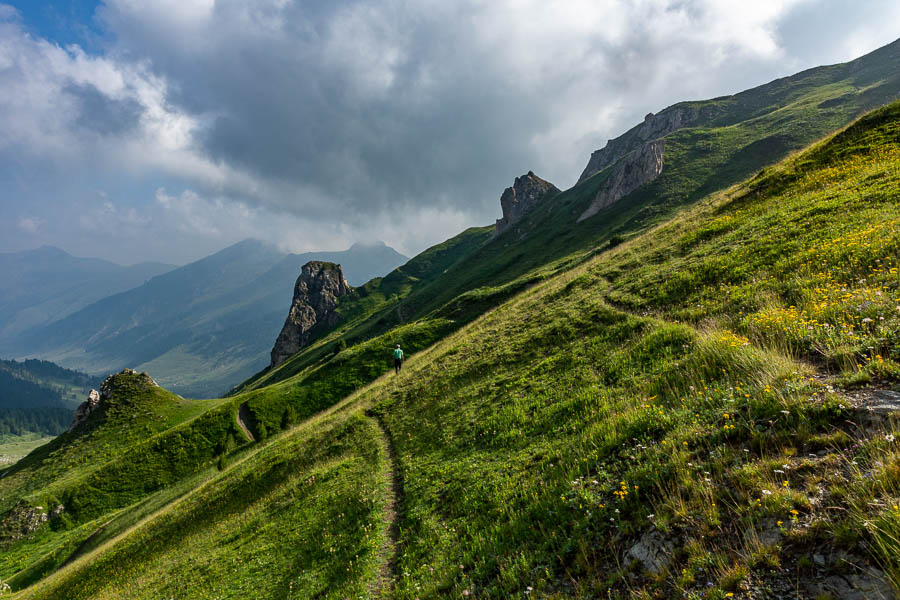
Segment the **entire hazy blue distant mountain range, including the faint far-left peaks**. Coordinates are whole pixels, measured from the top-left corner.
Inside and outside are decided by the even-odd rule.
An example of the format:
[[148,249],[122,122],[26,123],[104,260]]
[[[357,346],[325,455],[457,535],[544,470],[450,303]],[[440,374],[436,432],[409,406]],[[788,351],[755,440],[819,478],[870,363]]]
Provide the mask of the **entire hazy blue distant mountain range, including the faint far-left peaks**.
[[[0,354],[38,357],[94,374],[123,367],[147,370],[160,384],[188,396],[222,393],[268,363],[294,281],[306,262],[340,263],[351,285],[361,285],[407,260],[383,243],[287,254],[257,240],[178,268],[119,267],[76,259],[55,248],[5,258],[17,265],[10,271],[22,289],[4,288],[0,295],[22,300],[4,304],[10,308],[2,314],[10,315],[7,321],[15,327],[0,336]],[[70,266],[85,275],[60,274]],[[156,276],[148,278],[154,270]],[[93,272],[98,275],[89,278]],[[117,288],[99,273],[119,273]],[[46,293],[45,285],[50,286]],[[98,289],[112,292],[101,295]],[[23,316],[34,312],[27,312],[25,298],[45,307],[31,323]],[[75,310],[52,313],[53,307],[76,298]]]

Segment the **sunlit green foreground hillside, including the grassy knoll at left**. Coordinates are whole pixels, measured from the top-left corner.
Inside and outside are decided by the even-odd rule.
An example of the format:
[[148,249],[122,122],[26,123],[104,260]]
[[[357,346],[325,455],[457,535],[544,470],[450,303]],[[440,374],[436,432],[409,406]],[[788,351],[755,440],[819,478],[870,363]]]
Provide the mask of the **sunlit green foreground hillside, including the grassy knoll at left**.
[[[121,412],[0,478],[4,510],[66,507],[0,542],[0,578],[23,598],[890,597],[898,185],[895,103],[466,324],[449,303],[326,338],[203,403],[119,375]],[[394,339],[404,371],[365,385]]]

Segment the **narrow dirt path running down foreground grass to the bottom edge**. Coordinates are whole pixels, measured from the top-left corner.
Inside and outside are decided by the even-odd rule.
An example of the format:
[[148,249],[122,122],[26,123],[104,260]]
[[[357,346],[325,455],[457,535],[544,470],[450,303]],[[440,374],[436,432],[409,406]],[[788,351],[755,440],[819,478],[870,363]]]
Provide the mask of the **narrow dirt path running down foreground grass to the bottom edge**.
[[399,511],[403,502],[403,479],[397,469],[397,457],[394,452],[394,442],[390,434],[381,422],[381,418],[371,412],[366,415],[378,427],[381,435],[379,440],[385,456],[385,466],[382,469],[384,478],[384,529],[382,537],[384,545],[378,549],[378,576],[369,585],[369,596],[372,598],[389,598],[397,580],[397,557],[399,554],[400,531]]

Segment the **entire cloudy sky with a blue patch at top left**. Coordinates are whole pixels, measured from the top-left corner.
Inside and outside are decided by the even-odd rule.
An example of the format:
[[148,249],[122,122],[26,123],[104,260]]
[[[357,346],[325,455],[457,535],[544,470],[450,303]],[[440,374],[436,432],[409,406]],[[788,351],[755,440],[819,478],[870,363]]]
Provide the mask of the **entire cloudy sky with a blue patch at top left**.
[[896,0],[0,0],[0,252],[414,255],[648,112],[900,37]]

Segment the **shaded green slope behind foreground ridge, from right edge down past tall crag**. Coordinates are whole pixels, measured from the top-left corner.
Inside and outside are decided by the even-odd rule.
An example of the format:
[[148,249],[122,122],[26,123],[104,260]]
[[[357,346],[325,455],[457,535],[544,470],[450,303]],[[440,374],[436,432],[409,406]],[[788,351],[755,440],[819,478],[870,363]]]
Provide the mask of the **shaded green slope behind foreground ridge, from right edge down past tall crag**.
[[[490,228],[469,230],[366,286],[345,304],[345,325],[327,341],[353,344],[436,311],[458,325],[468,322],[515,291],[603,251],[611,238],[663,221],[896,98],[898,60],[900,43],[895,43],[850,63],[810,69],[734,96],[670,107],[666,110],[697,107],[706,116],[666,137],[666,167],[653,183],[576,224],[608,175],[603,171],[559,194],[504,236],[491,240]],[[440,253],[452,260],[433,261]],[[327,344],[315,345],[239,389],[295,376],[327,352]]]

